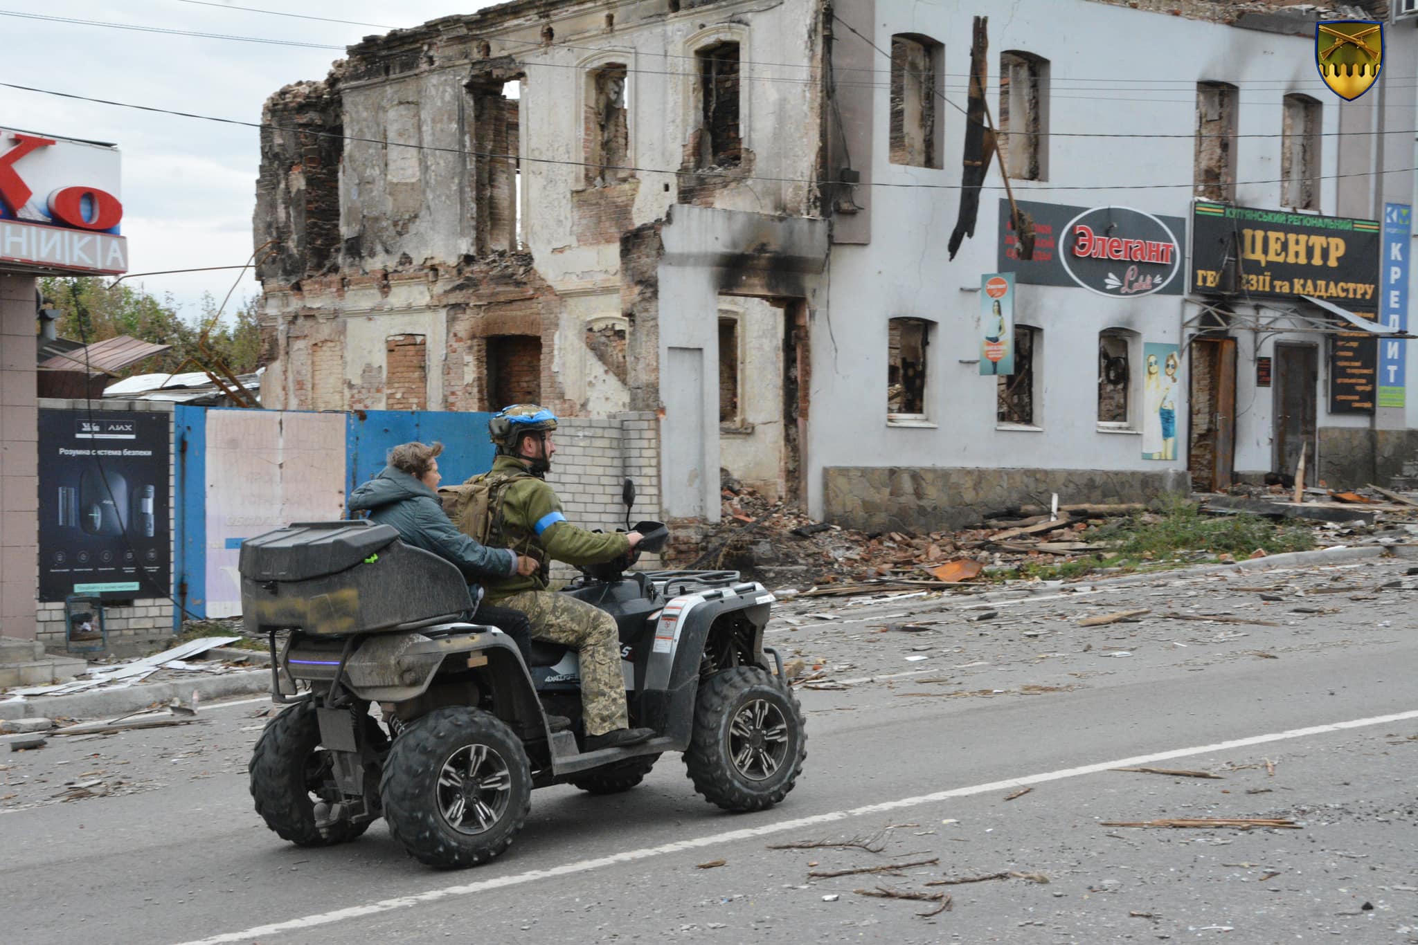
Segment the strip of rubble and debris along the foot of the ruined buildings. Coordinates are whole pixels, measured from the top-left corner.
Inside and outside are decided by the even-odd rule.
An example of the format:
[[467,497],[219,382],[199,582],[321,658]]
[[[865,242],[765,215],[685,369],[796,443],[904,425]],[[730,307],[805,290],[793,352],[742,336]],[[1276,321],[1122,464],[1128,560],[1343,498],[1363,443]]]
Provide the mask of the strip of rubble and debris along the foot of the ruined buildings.
[[720,521],[685,567],[737,570],[770,588],[818,595],[1098,578],[1333,545],[1418,547],[1418,490],[1235,485],[1147,504],[1071,504],[1051,494],[1035,506],[980,510],[976,528],[906,534],[815,521],[720,473]]

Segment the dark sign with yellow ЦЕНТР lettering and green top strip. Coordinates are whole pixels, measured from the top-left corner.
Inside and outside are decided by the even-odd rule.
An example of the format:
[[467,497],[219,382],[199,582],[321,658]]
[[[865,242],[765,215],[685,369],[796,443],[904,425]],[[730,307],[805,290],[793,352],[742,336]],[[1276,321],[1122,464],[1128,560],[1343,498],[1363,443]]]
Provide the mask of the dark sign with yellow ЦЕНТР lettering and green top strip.
[[[1378,306],[1378,222],[1197,201],[1191,217],[1191,281],[1197,292],[1269,299],[1310,295],[1363,317]],[[1238,283],[1224,286],[1227,258]]]

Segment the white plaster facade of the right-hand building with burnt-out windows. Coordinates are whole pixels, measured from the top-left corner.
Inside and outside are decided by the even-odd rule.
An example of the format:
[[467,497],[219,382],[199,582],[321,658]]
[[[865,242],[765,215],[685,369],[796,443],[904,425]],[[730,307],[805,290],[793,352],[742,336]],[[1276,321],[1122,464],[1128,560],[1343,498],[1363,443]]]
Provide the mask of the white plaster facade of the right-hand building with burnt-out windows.
[[[995,9],[998,6],[998,9]],[[1086,0],[1054,0],[1004,7],[988,4],[916,4],[879,0],[875,43],[889,48],[896,33],[922,33],[944,43],[947,96],[966,102],[971,17],[990,17],[990,103],[998,102],[998,54],[1024,50],[1051,61],[1049,180],[1018,181],[1015,196],[1081,207],[1124,205],[1151,214],[1190,213],[1195,130],[1195,82],[1225,79],[1241,86],[1238,132],[1275,135],[1242,137],[1236,152],[1238,181],[1273,181],[1280,176],[1282,101],[1302,91],[1324,103],[1323,130],[1337,128],[1339,99],[1320,86],[1313,64],[1313,38],[1238,30],[1105,6]],[[1008,16],[1003,16],[1008,14]],[[1059,24],[1069,28],[1061,30]],[[1099,48],[1107,55],[1100,58]],[[879,57],[876,68],[885,69]],[[1089,78],[1168,79],[1168,84]],[[1363,99],[1344,105],[1368,108]],[[1042,398],[1037,400],[1041,431],[995,429],[995,387],[980,377],[973,358],[978,319],[980,273],[994,272],[998,210],[1003,190],[986,190],[973,238],[954,261],[946,242],[959,207],[960,153],[964,116],[943,106],[946,122],[942,170],[902,167],[888,162],[885,146],[873,149],[873,180],[879,184],[933,184],[940,190],[885,187],[872,190],[872,241],[865,247],[835,245],[831,295],[814,324],[813,422],[810,424],[810,510],[821,514],[821,469],[862,463],[902,466],[1000,466],[1054,469],[1132,469],[1159,472],[1185,468],[1185,451],[1174,462],[1141,459],[1140,436],[1096,429],[1098,333],[1127,327],[1143,341],[1180,344],[1181,300],[1151,295],[1117,300],[1082,288],[1018,286],[1017,320],[1044,329]],[[875,140],[888,140],[889,89],[876,91]],[[1411,120],[1411,115],[1409,119]],[[1066,137],[1059,133],[1085,136]],[[1107,139],[1096,135],[1176,135],[1156,139]],[[1322,173],[1333,174],[1336,137],[1324,137]],[[997,170],[987,186],[1000,187]],[[1129,187],[1176,184],[1166,188]],[[1079,190],[1064,190],[1076,187]],[[1242,183],[1236,203],[1279,204],[1279,183]],[[1336,213],[1333,180],[1322,184],[1322,210]],[[1181,234],[1178,234],[1181,237]],[[932,425],[892,428],[886,424],[886,323],[892,317],[936,323],[929,349],[927,415]],[[1185,368],[1185,364],[1184,364]],[[1134,366],[1140,370],[1140,366]],[[1252,401],[1254,361],[1238,366],[1238,414]],[[1251,378],[1248,381],[1246,378]],[[1322,425],[1350,425],[1324,411],[1324,381],[1317,391]],[[1263,391],[1262,391],[1263,394]],[[1248,443],[1238,449],[1236,469],[1254,462],[1269,436],[1271,415],[1262,397],[1238,424]],[[1187,415],[1178,404],[1178,422]],[[831,418],[822,422],[822,418]],[[842,435],[842,431],[851,431]],[[1178,429],[1184,441],[1185,426]],[[1241,438],[1238,438],[1241,439]],[[1239,443],[1238,443],[1239,445]],[[1263,445],[1268,455],[1268,439]],[[1246,458],[1242,460],[1242,455]],[[869,458],[869,459],[868,459]],[[1269,468],[1269,459],[1262,463]]]

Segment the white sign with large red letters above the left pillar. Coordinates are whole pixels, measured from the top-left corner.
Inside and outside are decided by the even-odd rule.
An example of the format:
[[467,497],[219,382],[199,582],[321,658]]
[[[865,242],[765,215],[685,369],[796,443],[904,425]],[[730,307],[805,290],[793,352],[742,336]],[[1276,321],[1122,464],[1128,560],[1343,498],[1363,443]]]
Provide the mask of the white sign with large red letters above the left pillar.
[[0,128],[0,264],[128,272],[122,221],[116,147]]

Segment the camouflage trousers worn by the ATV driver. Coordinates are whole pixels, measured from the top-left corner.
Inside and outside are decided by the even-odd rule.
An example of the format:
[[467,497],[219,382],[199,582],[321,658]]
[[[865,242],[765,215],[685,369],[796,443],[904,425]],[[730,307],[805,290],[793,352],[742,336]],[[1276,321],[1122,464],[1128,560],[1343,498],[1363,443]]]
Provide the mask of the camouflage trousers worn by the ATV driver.
[[581,662],[581,713],[587,735],[630,725],[615,619],[584,601],[554,591],[522,591],[498,598],[527,615],[532,638],[570,646]]

